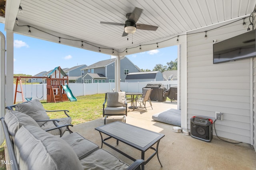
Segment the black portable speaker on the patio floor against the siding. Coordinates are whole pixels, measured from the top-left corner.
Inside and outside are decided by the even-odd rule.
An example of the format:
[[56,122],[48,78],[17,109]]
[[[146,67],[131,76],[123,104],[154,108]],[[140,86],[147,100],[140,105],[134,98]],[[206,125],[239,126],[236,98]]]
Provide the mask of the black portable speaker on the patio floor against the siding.
[[191,117],[190,135],[196,139],[210,142],[212,140],[212,119],[197,116]]

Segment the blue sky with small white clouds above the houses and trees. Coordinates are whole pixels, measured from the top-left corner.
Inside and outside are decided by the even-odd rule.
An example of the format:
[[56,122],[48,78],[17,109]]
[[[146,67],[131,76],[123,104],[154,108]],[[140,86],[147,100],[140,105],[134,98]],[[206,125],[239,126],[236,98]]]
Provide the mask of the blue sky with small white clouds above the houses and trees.
[[[6,35],[4,24],[0,31]],[[177,58],[177,46],[127,55],[139,68],[152,70],[156,64],[167,65]],[[110,55],[52,43],[24,35],[14,34],[14,74],[35,75],[60,66],[71,68],[77,65],[91,65],[98,61],[110,59]],[[145,62],[149,61],[149,62]]]

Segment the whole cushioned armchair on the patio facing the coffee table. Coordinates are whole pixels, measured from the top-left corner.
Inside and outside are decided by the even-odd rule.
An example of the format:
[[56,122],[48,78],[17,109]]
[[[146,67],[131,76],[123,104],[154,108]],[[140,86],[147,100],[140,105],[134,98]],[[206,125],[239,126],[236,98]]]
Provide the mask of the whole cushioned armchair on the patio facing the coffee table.
[[[105,107],[106,105],[106,107]],[[125,92],[108,92],[103,103],[104,124],[108,116],[122,115],[124,122],[127,116],[127,102]]]

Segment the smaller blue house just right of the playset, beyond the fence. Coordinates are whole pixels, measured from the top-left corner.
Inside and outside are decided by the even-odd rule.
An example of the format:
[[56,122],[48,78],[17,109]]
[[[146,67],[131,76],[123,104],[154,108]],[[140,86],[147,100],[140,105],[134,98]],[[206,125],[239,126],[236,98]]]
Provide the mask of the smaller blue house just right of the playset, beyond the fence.
[[71,68],[67,68],[64,72],[68,75],[69,83],[82,83],[82,72],[81,69],[85,68],[87,65],[82,64],[79,66],[74,66]]

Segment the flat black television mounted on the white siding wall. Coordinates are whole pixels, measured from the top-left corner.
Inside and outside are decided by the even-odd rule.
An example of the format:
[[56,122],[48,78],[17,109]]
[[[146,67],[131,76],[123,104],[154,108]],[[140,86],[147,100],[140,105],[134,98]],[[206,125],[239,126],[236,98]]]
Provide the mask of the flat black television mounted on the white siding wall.
[[213,44],[213,64],[256,57],[255,30]]

